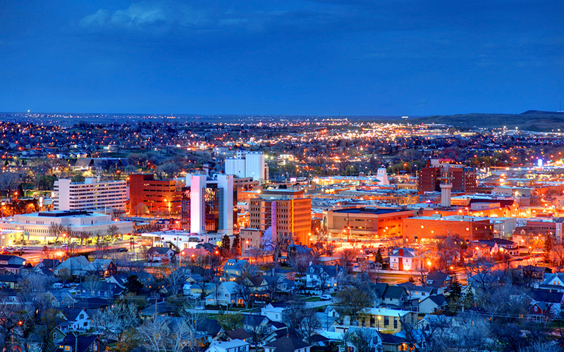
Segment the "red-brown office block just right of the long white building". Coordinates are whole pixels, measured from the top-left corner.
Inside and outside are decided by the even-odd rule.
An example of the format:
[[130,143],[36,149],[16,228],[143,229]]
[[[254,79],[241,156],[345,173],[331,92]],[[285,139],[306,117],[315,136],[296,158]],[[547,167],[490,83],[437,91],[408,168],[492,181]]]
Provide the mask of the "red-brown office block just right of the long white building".
[[[147,207],[147,208],[145,208]],[[178,213],[180,191],[175,180],[154,180],[152,174],[129,176],[129,213],[140,215],[144,210],[149,214]]]

